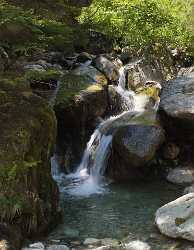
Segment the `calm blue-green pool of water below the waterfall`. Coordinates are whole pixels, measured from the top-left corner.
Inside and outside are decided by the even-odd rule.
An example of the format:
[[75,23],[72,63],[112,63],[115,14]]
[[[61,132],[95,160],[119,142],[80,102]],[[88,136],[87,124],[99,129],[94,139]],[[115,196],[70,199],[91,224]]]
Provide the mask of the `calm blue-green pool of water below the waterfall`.
[[104,194],[90,197],[62,193],[63,221],[50,237],[66,243],[91,237],[118,240],[128,237],[146,240],[154,249],[168,249],[165,246],[173,241],[159,234],[154,215],[159,207],[181,193],[177,186],[163,181],[112,184]]

